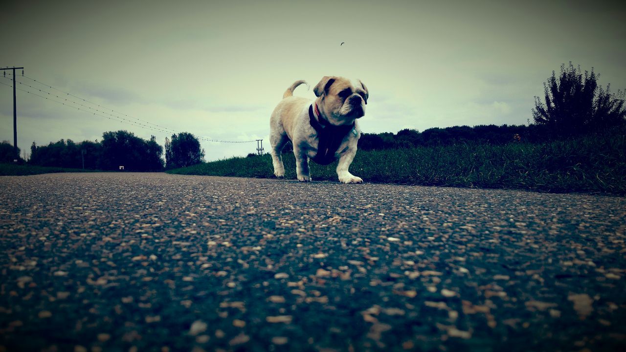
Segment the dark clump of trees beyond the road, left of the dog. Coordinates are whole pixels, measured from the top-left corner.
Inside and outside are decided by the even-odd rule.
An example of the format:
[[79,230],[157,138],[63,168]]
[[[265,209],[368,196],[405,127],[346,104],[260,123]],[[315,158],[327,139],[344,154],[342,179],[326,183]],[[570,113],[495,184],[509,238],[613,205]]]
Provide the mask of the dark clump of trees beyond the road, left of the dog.
[[[13,147],[8,142],[0,145],[0,157],[4,155],[5,144],[11,147],[8,155],[13,160]],[[164,148],[152,136],[150,140],[120,130],[105,132],[98,142],[59,140],[48,145],[31,145],[28,163],[38,166],[86,168],[91,170],[162,171],[164,168],[186,167],[204,161],[204,150],[198,138],[192,133],[173,134],[171,140],[165,138]],[[5,161],[3,159],[3,161]],[[9,161],[9,160],[6,160]]]

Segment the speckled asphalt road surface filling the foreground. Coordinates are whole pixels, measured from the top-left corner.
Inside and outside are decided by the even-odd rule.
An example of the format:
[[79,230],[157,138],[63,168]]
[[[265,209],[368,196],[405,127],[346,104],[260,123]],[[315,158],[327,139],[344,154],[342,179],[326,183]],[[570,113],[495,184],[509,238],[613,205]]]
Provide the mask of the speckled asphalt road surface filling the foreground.
[[626,199],[0,177],[0,351],[615,351]]

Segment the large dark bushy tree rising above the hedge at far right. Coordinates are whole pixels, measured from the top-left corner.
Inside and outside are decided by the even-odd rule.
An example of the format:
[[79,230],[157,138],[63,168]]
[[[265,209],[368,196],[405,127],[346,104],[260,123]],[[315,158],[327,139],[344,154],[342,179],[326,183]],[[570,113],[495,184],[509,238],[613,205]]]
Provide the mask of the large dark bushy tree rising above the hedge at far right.
[[624,123],[623,92],[617,95],[610,92],[610,85],[604,89],[598,86],[600,75],[578,68],[561,65],[561,73],[543,83],[544,100],[535,96],[533,118],[535,123],[545,125],[553,136],[570,136],[584,132],[613,127]]

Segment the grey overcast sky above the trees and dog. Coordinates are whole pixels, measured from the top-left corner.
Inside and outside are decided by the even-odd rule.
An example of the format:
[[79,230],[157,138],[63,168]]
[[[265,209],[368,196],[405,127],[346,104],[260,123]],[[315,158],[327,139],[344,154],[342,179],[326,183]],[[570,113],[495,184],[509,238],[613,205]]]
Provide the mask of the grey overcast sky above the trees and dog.
[[[24,67],[23,151],[116,130],[253,141],[201,140],[211,161],[255,153],[256,139],[269,152],[285,89],[306,80],[294,94],[313,99],[331,75],[369,89],[363,132],[527,124],[563,63],[626,88],[624,18],[623,1],[13,1],[0,67]],[[13,144],[11,78],[0,70],[0,140]]]

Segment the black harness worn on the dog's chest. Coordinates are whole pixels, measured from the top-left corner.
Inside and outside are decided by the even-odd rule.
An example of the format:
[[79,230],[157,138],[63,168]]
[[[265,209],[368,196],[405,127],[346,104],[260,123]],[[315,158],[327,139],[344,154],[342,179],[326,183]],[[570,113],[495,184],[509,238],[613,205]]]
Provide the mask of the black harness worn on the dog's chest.
[[319,118],[317,122],[313,115],[313,105],[309,106],[309,120],[311,126],[317,132],[317,154],[313,159],[314,162],[320,165],[328,165],[336,160],[335,153],[341,145],[341,142],[346,138],[346,135],[354,128],[354,122],[352,125],[335,126],[327,122],[323,118]]

